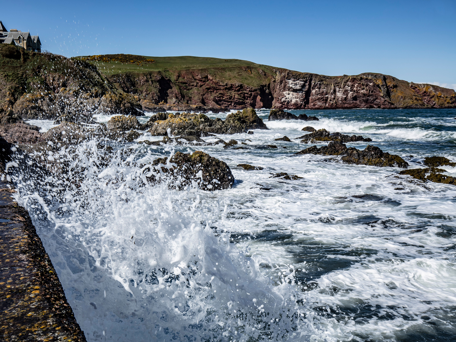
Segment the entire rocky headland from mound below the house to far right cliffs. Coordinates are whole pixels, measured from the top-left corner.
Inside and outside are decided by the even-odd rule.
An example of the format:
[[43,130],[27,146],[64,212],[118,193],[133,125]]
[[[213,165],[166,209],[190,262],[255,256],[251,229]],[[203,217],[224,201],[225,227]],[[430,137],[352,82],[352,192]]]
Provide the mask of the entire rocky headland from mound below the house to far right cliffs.
[[183,58],[153,57],[158,64],[140,69],[24,51],[0,57],[0,115],[89,122],[93,114],[143,110],[456,108],[453,89],[388,75],[323,76],[188,56],[193,64],[181,65]]

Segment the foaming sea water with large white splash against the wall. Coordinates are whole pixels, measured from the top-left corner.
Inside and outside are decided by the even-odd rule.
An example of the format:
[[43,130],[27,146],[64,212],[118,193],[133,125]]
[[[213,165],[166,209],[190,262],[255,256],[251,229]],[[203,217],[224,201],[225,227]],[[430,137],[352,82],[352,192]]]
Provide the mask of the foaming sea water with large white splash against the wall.
[[[423,167],[425,156],[456,161],[456,110],[291,112],[320,120],[268,122],[258,110],[269,130],[220,136],[248,150],[134,142],[108,154],[90,141],[10,166],[88,341],[456,341],[456,187],[274,141],[310,125]],[[143,165],[195,150],[230,166],[232,189],[145,181]],[[45,157],[68,169],[41,171]]]

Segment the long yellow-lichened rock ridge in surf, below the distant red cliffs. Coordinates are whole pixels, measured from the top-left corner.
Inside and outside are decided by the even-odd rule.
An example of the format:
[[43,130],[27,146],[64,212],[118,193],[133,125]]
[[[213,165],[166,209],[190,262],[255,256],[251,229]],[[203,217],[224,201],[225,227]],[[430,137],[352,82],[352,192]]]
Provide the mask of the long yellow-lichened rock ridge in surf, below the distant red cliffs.
[[[155,118],[151,118],[148,124],[151,120],[155,120]],[[176,113],[166,114],[166,119],[158,119],[151,124],[152,127],[148,131],[151,135],[168,135],[168,130],[171,135],[207,136],[211,133],[235,134],[254,129],[268,129],[252,108],[228,114],[225,120],[210,119],[202,113]]]

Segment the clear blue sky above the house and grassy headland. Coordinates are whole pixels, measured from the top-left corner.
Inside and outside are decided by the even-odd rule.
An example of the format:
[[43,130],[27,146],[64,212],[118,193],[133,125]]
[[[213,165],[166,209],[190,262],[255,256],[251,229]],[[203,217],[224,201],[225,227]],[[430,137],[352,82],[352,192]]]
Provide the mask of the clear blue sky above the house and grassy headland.
[[456,1],[5,1],[6,28],[64,56],[239,58],[456,88]]

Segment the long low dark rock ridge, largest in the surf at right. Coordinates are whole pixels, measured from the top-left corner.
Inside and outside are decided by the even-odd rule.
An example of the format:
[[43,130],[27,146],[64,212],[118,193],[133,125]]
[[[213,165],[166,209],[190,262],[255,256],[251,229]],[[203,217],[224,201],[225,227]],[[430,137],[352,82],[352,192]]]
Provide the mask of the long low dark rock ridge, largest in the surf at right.
[[371,165],[371,166],[390,166],[401,167],[406,169],[409,164],[404,161],[399,155],[390,155],[388,152],[383,152],[377,146],[368,145],[364,150],[358,150],[354,147],[349,147],[338,141],[331,141],[327,146],[320,148],[311,146],[305,150],[295,153],[295,155],[340,155],[343,163]]

